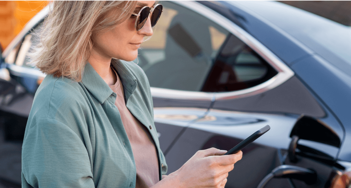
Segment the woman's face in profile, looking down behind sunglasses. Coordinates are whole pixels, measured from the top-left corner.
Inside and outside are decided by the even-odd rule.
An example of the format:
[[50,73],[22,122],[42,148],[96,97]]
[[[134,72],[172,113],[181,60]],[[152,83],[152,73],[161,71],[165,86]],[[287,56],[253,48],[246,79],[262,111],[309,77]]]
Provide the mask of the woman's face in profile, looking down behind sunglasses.
[[[144,6],[152,7],[155,1],[138,1],[134,13],[138,14]],[[137,31],[134,27],[135,19],[133,16],[127,21],[114,27],[106,33],[96,34],[92,55],[100,56],[95,58],[111,59],[117,58],[126,61],[132,61],[138,56],[138,48],[143,42],[144,37],[153,34],[150,22],[150,15],[141,30]]]

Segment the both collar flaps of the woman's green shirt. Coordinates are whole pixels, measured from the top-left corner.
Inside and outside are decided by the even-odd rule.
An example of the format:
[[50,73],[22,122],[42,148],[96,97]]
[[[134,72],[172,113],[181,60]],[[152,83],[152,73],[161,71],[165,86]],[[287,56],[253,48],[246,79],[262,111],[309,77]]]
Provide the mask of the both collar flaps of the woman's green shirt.
[[[130,98],[137,87],[137,78],[135,78],[133,73],[122,63],[122,61],[112,59],[111,63],[121,79],[124,88],[125,101],[127,103],[128,98]],[[89,62],[87,62],[84,67],[82,84],[101,104],[104,103],[113,93],[111,88],[100,77]]]

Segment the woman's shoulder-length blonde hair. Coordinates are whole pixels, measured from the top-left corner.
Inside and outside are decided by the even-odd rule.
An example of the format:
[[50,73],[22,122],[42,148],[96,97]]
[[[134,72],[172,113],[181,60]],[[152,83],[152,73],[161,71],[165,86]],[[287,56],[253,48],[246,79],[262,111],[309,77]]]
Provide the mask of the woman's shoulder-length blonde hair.
[[93,45],[92,35],[130,18],[137,1],[53,1],[39,31],[31,63],[46,74],[82,79]]

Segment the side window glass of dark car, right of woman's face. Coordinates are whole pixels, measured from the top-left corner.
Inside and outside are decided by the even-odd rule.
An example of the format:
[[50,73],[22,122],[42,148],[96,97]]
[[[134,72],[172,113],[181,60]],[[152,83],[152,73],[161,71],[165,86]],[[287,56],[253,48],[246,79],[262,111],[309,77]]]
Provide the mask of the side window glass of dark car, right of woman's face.
[[185,91],[235,91],[277,74],[243,41],[215,22],[172,2],[153,36],[142,44],[139,66],[151,87]]

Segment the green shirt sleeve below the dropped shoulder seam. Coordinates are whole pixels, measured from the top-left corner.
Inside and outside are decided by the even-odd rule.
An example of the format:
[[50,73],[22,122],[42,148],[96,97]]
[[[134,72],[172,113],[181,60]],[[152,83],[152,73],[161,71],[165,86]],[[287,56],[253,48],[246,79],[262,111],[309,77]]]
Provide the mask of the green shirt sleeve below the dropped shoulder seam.
[[22,147],[22,187],[93,188],[92,164],[80,137],[51,118],[29,126]]

